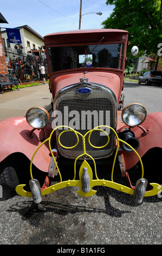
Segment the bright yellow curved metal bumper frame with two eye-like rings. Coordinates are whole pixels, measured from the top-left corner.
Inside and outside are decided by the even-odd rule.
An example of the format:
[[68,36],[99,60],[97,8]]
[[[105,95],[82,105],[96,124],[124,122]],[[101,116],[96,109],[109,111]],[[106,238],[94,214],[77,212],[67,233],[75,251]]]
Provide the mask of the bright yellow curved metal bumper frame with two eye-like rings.
[[[61,173],[60,173],[60,170],[59,170],[59,167],[57,166],[57,162],[55,160],[55,157],[53,155],[53,151],[51,150],[51,145],[50,145],[50,141],[51,141],[51,137],[53,135],[53,133],[59,129],[59,128],[68,128],[69,130],[64,130],[60,133],[59,137],[58,137],[58,142],[59,144],[61,145],[61,147],[63,148],[66,148],[66,149],[72,149],[72,148],[75,148],[77,146],[77,144],[79,143],[79,137],[78,135],[80,135],[82,137],[82,145],[83,145],[83,154],[79,155],[76,157],[75,159],[75,162],[74,162],[74,179],[73,180],[68,180],[68,181],[62,181],[62,176],[61,176]],[[114,161],[113,161],[113,166],[112,166],[112,172],[111,172],[111,181],[109,180],[100,180],[98,178],[98,175],[97,175],[97,172],[96,172],[96,164],[95,164],[95,160],[93,159],[92,156],[88,155],[86,153],[86,143],[85,143],[85,137],[88,135],[88,142],[89,144],[94,147],[94,148],[104,148],[106,147],[106,145],[109,143],[109,135],[106,131],[104,130],[101,130],[99,129],[100,127],[107,127],[109,129],[111,129],[114,133],[115,133],[115,136],[116,136],[116,140],[117,140],[117,146],[116,146],[116,151],[115,151],[115,156],[114,156]],[[105,132],[106,135],[107,135],[107,143],[101,147],[96,147],[94,146],[92,143],[90,143],[90,136],[92,134],[93,131],[102,131],[102,132]],[[60,142],[60,137],[61,135],[64,133],[64,132],[69,132],[69,131],[73,131],[76,135],[76,138],[77,138],[77,142],[74,146],[72,147],[65,147],[64,145],[61,144]],[[40,149],[40,147],[42,147],[42,145],[44,143],[48,142],[49,143],[49,150],[50,150],[50,153],[51,153],[51,156],[53,157],[54,159],[54,162],[56,164],[56,168],[58,170],[58,173],[59,173],[59,176],[60,176],[60,182],[58,182],[57,184],[55,185],[52,185],[48,188],[45,188],[44,190],[42,190],[42,195],[44,194],[48,194],[48,193],[51,193],[53,191],[56,191],[56,190],[59,190],[60,188],[64,188],[64,187],[67,187],[67,186],[78,186],[80,187],[80,191],[77,191],[78,194],[80,194],[80,196],[83,196],[83,197],[89,197],[89,196],[92,196],[93,194],[96,193],[96,191],[92,190],[92,187],[94,186],[107,186],[107,187],[112,187],[116,190],[119,190],[119,191],[122,191],[122,192],[125,192],[125,193],[128,193],[128,194],[132,194],[134,193],[134,190],[132,188],[129,188],[129,187],[126,187],[126,186],[123,186],[121,184],[118,184],[116,182],[113,181],[113,172],[114,172],[114,166],[115,166],[115,161],[116,161],[116,156],[118,154],[118,149],[119,149],[119,142],[122,142],[122,143],[125,143],[129,148],[131,148],[134,153],[138,156],[139,158],[139,161],[140,161],[140,164],[141,164],[141,178],[144,177],[144,167],[143,167],[143,164],[142,164],[142,161],[141,161],[141,158],[139,156],[139,154],[137,153],[137,151],[134,150],[133,147],[131,147],[131,145],[129,145],[128,143],[126,143],[125,141],[122,141],[122,139],[119,139],[118,137],[118,134],[116,133],[116,131],[110,127],[110,126],[107,126],[107,125],[100,125],[100,126],[97,126],[95,127],[94,129],[92,130],[89,130],[84,136],[80,133],[80,132],[77,132],[75,131],[74,129],[72,129],[71,127],[69,126],[66,126],[66,125],[62,125],[62,126],[57,126],[50,134],[49,138],[47,138],[44,142],[42,142],[39,147],[35,150],[34,154],[33,154],[33,157],[31,158],[31,162],[30,162],[30,176],[31,176],[31,179],[33,179],[33,174],[32,174],[32,163],[33,163],[33,159],[34,159],[34,156],[35,154],[37,153],[38,149]],[[93,163],[94,163],[94,171],[95,171],[95,177],[96,177],[96,180],[93,180],[92,179],[92,169],[90,168],[88,162],[86,160],[83,161],[83,163],[81,164],[81,167],[80,167],[80,170],[79,170],[79,177],[80,177],[80,180],[75,180],[76,178],[76,161],[81,157],[81,156],[84,156],[84,155],[87,155],[88,157],[90,157],[90,159],[92,159]],[[81,176],[82,176],[82,172],[83,172],[83,167],[87,167],[87,170],[88,170],[88,174],[90,176],[90,191],[88,193],[85,193],[82,191],[82,182],[81,182]],[[155,194],[158,194],[161,192],[161,186],[157,183],[151,183],[150,185],[152,185],[152,190],[150,191],[146,191],[145,192],[145,197],[146,196],[154,196]],[[16,187],[16,192],[18,194],[20,194],[21,196],[24,196],[24,197],[32,197],[32,194],[31,192],[27,192],[23,189],[25,185],[22,184],[22,185],[18,185]]]

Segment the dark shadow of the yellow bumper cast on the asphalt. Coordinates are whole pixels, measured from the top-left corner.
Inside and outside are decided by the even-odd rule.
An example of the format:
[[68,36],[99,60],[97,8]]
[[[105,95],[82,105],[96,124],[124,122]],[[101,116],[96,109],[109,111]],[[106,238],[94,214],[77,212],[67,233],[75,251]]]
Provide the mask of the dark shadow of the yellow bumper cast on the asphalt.
[[[55,198],[54,202],[48,201],[48,200],[42,200],[42,202],[38,205],[33,203],[33,200],[20,200],[20,202],[17,202],[14,205],[10,205],[7,212],[17,212],[22,216],[23,220],[27,220],[30,224],[38,224],[40,221],[45,217],[46,213],[52,212],[55,215],[60,216],[66,216],[71,214],[77,214],[82,212],[83,214],[89,213],[89,214],[106,214],[111,217],[121,218],[124,214],[131,214],[130,208],[128,207],[127,210],[120,210],[115,208],[113,205],[116,205],[114,203],[114,199],[118,202],[121,202],[121,208],[123,208],[123,205],[128,205],[131,207],[138,207],[139,205],[135,204],[128,194],[119,192],[119,191],[112,191],[108,192],[105,191],[107,188],[99,188],[99,190],[96,192],[97,197],[103,197],[105,207],[101,205],[99,206],[100,202],[98,198],[95,198],[94,201],[92,200],[92,205],[89,206],[85,205],[85,203],[77,202],[75,201],[73,203],[73,200],[71,202],[57,202],[57,199]],[[112,201],[112,202],[111,202]],[[98,205],[95,206],[95,203],[98,203]],[[150,198],[144,198],[144,202],[146,203],[155,203],[159,202],[159,198],[157,196],[150,197]],[[91,204],[90,204],[91,205]],[[119,204],[118,204],[119,205]]]

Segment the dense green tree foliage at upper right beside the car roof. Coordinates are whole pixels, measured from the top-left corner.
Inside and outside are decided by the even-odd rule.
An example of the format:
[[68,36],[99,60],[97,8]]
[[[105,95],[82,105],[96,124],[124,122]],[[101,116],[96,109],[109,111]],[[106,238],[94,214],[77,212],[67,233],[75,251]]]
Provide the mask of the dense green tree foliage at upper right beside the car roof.
[[113,13],[102,22],[103,28],[124,29],[129,32],[128,53],[134,45],[140,54],[157,53],[162,42],[161,1],[159,0],[107,0],[115,5]]

